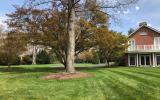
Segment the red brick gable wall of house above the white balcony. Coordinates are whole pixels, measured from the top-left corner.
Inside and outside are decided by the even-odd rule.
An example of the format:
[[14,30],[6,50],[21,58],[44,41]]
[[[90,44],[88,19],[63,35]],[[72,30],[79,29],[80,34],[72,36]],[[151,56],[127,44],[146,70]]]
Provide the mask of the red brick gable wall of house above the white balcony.
[[[140,32],[146,32],[147,35],[140,35]],[[153,45],[154,44],[154,37],[159,37],[160,34],[143,26],[140,28],[136,33],[131,35],[129,38],[135,40],[136,45]]]

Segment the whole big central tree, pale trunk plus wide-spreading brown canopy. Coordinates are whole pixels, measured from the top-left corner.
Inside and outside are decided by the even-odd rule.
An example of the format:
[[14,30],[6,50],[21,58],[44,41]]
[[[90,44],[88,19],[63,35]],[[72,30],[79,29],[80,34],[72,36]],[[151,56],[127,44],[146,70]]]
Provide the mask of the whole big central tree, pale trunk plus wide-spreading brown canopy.
[[108,30],[114,12],[137,1],[27,0],[8,14],[7,23],[13,30],[26,33],[28,43],[51,47],[66,71],[74,73],[74,56],[96,46],[95,34],[103,33],[99,27]]

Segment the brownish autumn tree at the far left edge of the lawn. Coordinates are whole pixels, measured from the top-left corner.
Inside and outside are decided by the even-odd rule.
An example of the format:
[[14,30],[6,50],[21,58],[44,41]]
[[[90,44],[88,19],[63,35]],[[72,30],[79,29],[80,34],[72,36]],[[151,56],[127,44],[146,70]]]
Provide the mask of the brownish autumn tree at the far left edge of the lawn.
[[25,50],[25,36],[21,33],[8,32],[4,38],[1,38],[1,60],[3,60],[3,63],[7,64],[8,67],[10,67]]

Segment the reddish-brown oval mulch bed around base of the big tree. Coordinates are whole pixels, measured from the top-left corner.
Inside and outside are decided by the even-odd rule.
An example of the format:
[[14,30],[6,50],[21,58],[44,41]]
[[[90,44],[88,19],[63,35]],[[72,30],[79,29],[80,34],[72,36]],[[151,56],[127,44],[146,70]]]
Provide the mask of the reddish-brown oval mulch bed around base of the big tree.
[[86,77],[92,77],[93,75],[87,74],[87,73],[55,73],[55,74],[49,74],[44,77],[45,80],[50,80],[50,79],[75,79],[75,78],[86,78]]

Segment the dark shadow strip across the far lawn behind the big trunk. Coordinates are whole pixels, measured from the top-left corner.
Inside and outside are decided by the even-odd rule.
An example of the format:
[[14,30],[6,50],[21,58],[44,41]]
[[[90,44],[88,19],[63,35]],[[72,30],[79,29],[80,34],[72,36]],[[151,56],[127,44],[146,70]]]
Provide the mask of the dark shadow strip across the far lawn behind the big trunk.
[[[76,67],[77,71],[93,71],[101,68],[105,68],[104,66],[90,66],[90,67]],[[15,72],[15,73],[30,73],[30,72],[65,72],[64,67],[0,67],[0,72]]]

